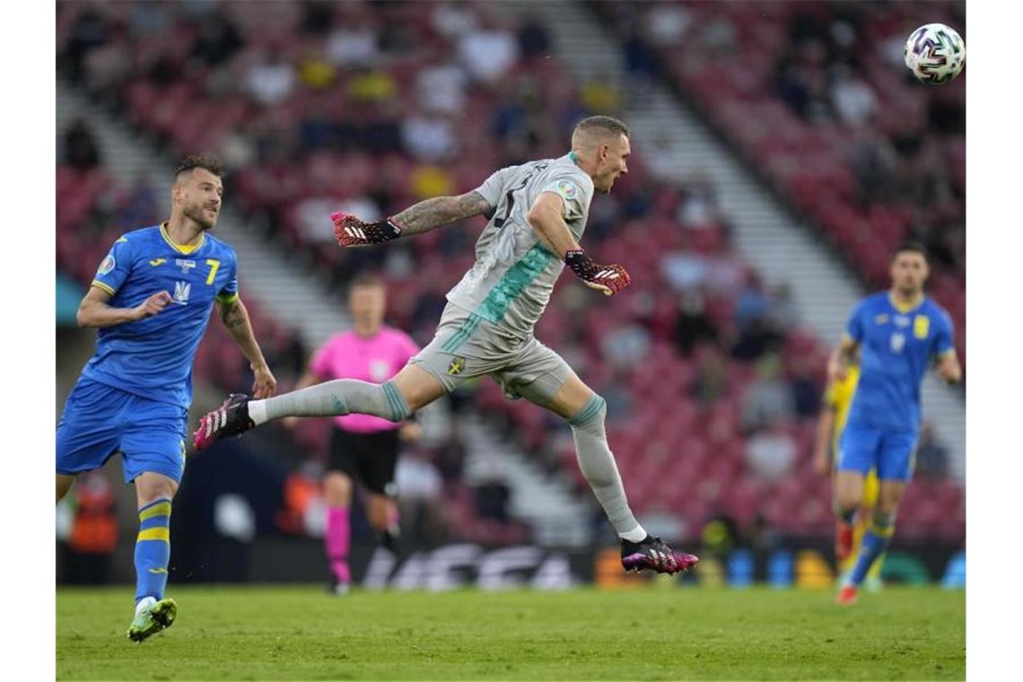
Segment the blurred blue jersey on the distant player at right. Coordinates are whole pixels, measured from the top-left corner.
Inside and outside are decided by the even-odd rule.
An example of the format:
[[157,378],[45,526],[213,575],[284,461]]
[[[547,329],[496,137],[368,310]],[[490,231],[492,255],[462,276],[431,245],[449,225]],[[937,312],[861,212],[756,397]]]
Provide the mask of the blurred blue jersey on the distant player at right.
[[869,295],[853,309],[846,325],[861,348],[859,385],[848,424],[920,429],[920,384],[935,356],[954,352],[948,313],[925,297],[899,310],[890,293]]

